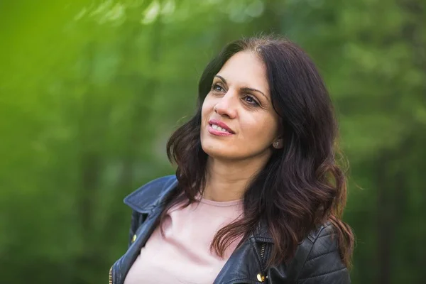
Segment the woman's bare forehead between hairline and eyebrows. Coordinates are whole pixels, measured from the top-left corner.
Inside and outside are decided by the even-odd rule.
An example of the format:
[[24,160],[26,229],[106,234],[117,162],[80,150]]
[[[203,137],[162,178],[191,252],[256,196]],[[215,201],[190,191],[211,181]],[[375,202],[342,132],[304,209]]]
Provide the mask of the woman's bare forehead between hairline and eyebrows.
[[269,93],[266,66],[261,58],[251,51],[241,51],[232,55],[217,73],[224,77],[229,85],[251,87]]

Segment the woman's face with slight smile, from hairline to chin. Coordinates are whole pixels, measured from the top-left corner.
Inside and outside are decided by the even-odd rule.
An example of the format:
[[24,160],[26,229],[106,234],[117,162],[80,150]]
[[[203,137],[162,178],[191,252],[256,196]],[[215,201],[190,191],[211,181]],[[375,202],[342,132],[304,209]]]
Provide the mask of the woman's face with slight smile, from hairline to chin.
[[202,149],[212,158],[268,159],[278,141],[278,121],[264,63],[250,51],[236,53],[214,77],[202,104]]

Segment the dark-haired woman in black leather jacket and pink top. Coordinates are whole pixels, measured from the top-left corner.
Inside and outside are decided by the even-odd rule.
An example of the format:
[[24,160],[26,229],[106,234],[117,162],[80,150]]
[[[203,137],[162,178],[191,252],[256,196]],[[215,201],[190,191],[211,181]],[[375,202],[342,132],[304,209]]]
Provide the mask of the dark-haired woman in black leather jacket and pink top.
[[168,141],[176,175],[124,200],[129,249],[110,283],[350,283],[337,123],[312,60],[285,39],[236,40],[198,103]]

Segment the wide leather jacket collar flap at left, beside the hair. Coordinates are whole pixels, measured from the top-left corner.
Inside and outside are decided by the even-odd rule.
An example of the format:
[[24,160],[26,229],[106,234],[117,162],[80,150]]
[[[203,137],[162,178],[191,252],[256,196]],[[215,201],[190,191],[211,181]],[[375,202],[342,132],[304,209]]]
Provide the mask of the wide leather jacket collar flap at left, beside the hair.
[[124,198],[124,203],[136,212],[148,213],[178,185],[175,175],[166,175],[142,185]]

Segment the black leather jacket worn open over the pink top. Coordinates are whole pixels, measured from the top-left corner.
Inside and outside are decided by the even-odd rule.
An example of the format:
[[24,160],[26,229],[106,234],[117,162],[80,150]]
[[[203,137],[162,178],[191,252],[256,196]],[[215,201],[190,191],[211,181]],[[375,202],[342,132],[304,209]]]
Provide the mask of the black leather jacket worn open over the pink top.
[[[155,229],[164,209],[165,197],[178,185],[175,175],[148,182],[124,199],[133,209],[129,249],[111,267],[109,283],[123,284],[141,248]],[[298,246],[288,263],[266,268],[273,240],[259,224],[239,249],[231,254],[214,284],[223,283],[351,283],[349,271],[342,263],[337,238],[332,238],[332,225],[324,224],[312,231]]]

